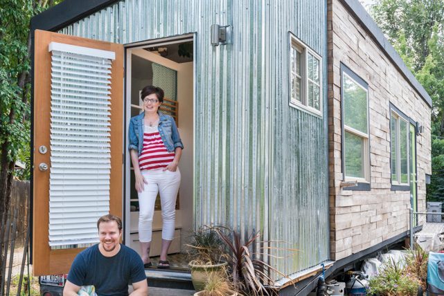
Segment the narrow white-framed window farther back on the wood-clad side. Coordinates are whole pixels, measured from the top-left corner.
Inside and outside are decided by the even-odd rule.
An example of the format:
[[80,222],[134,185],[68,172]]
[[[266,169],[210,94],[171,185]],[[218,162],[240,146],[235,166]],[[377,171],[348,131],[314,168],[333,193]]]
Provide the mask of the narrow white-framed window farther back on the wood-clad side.
[[409,185],[409,122],[391,111],[391,183]]

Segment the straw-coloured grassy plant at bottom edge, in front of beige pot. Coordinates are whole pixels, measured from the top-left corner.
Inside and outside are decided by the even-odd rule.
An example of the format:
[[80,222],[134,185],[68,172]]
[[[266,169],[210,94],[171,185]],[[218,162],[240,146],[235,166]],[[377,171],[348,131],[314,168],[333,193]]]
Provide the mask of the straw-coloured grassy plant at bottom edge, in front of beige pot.
[[204,290],[196,292],[194,296],[237,296],[236,287],[229,279],[227,270],[222,268],[223,275],[220,272],[210,272],[204,286]]

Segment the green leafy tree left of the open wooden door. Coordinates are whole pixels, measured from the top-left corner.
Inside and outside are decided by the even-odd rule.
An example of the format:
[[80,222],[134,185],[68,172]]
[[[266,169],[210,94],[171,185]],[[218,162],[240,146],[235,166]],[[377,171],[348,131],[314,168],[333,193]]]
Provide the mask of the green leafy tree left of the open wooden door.
[[30,19],[54,4],[0,0],[0,219],[9,211],[15,162],[30,153]]

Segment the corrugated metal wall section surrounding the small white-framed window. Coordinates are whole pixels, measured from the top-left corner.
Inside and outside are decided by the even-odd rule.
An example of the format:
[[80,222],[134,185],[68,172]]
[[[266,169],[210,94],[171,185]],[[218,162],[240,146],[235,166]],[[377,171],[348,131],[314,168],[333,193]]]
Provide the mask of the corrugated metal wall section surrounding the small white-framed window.
[[[274,265],[288,274],[328,259],[328,133],[326,1],[276,1],[270,7],[272,27],[267,52],[272,56],[274,163],[269,201],[269,239],[286,241],[298,252],[279,250]],[[323,61],[323,118],[288,106],[288,31],[310,46]]]

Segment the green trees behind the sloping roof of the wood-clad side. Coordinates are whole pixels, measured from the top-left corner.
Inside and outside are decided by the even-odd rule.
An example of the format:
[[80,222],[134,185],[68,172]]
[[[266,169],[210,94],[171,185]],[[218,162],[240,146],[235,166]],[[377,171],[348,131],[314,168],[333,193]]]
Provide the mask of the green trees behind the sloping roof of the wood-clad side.
[[433,102],[428,200],[444,200],[444,0],[379,0],[371,14]]

